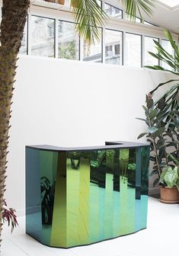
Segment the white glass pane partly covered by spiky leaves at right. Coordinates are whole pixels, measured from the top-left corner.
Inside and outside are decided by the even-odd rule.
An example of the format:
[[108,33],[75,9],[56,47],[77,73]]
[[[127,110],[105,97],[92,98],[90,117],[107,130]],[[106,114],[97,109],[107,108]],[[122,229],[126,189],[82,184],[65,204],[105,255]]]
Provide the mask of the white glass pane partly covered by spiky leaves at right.
[[157,40],[157,38],[154,37],[145,37],[145,43],[144,43],[144,65],[154,66],[158,65],[158,59],[155,59],[152,57],[149,52],[152,53],[158,53],[158,51],[155,48],[154,40]]

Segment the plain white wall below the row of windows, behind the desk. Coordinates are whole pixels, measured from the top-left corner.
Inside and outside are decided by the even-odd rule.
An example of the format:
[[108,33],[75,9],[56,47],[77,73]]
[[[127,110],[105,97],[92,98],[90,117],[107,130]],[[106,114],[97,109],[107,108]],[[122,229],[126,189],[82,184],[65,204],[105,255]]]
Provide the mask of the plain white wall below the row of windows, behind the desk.
[[[24,146],[136,141],[145,93],[171,75],[21,56],[12,105],[6,200],[24,213]],[[142,141],[142,140],[141,140]],[[144,140],[143,140],[144,141]]]

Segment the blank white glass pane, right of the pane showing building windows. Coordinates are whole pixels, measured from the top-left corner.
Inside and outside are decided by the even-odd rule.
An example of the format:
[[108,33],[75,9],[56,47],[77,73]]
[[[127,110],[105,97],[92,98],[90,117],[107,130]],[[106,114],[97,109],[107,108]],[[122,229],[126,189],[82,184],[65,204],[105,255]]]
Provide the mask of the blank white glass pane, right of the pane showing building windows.
[[126,66],[141,67],[142,37],[126,33]]

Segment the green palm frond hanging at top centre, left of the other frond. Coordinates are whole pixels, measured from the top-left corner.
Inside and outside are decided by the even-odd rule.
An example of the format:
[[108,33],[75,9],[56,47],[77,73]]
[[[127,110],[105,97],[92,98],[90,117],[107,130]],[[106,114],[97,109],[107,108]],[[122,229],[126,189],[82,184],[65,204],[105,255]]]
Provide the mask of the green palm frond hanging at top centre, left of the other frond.
[[107,21],[107,14],[97,4],[96,0],[72,0],[71,6],[75,17],[75,27],[78,33],[85,38],[86,42],[94,42],[94,38],[99,40],[101,30]]

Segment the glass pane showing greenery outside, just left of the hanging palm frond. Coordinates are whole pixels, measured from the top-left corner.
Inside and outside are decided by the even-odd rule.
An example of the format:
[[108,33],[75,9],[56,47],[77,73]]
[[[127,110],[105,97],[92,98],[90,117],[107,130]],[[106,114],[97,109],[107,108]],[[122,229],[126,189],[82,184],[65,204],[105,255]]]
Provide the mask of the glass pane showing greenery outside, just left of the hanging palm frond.
[[59,21],[59,58],[79,59],[79,37],[71,22]]

